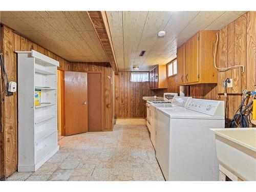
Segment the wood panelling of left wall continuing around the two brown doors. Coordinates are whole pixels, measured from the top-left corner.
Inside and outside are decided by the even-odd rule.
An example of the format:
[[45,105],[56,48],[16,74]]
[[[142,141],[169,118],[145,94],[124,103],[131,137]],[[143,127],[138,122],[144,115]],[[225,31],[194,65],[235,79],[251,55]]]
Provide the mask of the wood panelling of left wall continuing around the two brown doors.
[[[59,68],[63,71],[103,71],[104,78],[104,97],[105,97],[105,130],[112,130],[114,123],[114,103],[113,91],[114,87],[110,86],[110,79],[107,76],[114,77],[113,70],[110,67],[105,67],[109,63],[72,63],[56,54],[50,52],[47,49],[35,44],[34,42],[16,34],[12,29],[2,26],[3,33],[3,52],[5,67],[7,70],[9,81],[17,81],[17,64],[15,51],[30,51],[31,49],[45,54],[57,61],[59,61]],[[4,132],[0,133],[1,145],[1,170],[0,178],[8,177],[16,171],[17,167],[17,93],[13,96],[5,97],[4,100]]]

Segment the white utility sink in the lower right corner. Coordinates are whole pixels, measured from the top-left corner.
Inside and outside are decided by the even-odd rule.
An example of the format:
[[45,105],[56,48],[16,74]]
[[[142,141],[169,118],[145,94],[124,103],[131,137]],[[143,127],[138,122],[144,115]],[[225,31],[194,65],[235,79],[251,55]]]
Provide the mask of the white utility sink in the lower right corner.
[[256,128],[211,130],[220,166],[244,181],[256,181]]

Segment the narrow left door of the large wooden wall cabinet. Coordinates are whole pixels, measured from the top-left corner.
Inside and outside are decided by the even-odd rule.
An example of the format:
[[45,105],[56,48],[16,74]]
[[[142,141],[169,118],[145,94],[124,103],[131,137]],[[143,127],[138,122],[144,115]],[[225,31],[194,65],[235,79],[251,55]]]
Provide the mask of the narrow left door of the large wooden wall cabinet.
[[185,44],[177,49],[177,83],[185,83]]

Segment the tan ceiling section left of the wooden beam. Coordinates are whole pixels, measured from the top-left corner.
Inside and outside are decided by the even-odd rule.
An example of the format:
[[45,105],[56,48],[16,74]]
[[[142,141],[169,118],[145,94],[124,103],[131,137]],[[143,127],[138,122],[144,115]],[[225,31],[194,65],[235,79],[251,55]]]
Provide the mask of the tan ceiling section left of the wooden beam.
[[87,11],[1,11],[2,24],[71,62],[109,62]]

